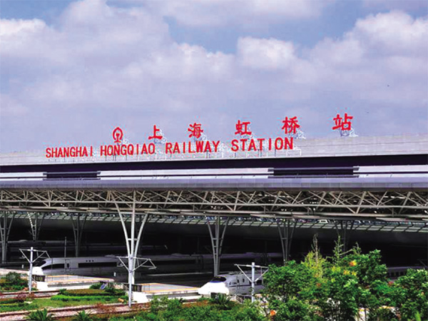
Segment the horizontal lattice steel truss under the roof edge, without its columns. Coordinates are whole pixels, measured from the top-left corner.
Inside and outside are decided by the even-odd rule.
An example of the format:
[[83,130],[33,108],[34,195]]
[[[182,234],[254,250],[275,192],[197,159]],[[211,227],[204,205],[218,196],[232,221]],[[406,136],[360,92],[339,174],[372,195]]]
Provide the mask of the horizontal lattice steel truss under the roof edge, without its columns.
[[[135,195],[135,199],[134,199]],[[428,192],[0,190],[0,210],[428,220]]]

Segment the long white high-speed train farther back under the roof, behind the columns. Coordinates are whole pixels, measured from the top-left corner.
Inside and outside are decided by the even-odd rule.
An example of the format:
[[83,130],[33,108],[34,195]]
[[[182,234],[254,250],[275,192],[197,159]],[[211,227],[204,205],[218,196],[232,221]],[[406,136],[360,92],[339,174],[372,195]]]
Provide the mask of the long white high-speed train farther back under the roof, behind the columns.
[[[141,268],[138,274],[167,274],[179,272],[204,272],[213,269],[213,255],[147,255],[156,266],[155,270]],[[223,254],[220,259],[221,270],[233,270],[235,264],[278,263],[281,253],[240,253]],[[113,255],[88,258],[48,258],[33,267],[34,275],[113,275],[114,272],[125,272],[121,261]]]

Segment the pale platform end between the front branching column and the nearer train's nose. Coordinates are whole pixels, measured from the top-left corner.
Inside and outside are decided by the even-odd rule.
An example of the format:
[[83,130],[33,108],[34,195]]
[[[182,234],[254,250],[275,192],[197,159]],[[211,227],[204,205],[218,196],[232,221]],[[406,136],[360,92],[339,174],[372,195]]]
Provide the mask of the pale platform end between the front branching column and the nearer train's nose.
[[150,302],[153,297],[195,300],[200,297],[199,287],[163,283],[141,283],[133,285],[133,300],[138,303]]

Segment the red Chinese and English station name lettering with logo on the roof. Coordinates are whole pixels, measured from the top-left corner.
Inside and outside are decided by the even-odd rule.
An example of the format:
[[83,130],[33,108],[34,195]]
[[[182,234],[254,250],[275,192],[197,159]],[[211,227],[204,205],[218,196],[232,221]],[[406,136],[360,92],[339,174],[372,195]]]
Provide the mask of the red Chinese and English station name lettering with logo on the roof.
[[[345,119],[337,114],[335,127],[333,130],[350,131],[352,116],[345,113]],[[238,151],[283,151],[292,150],[294,139],[298,133],[300,125],[297,117],[288,118],[282,121],[282,130],[285,133],[283,137],[275,138],[254,138],[250,131],[250,121],[238,121],[235,124],[235,138],[228,144],[222,144],[220,141],[210,141],[203,135],[203,128],[200,123],[191,123],[188,126],[188,136],[192,141],[169,142],[163,137],[163,133],[156,125],[153,126],[153,135],[148,136],[148,143],[123,143],[123,130],[120,127],[113,129],[113,143],[110,145],[101,145],[98,148],[98,156],[136,156],[153,155],[157,152],[165,155],[173,154],[195,154],[195,153],[218,153],[220,148],[229,148],[236,153]],[[46,158],[83,158],[95,156],[93,146],[67,146],[67,147],[48,147],[46,148]]]

